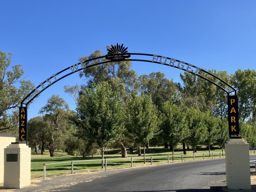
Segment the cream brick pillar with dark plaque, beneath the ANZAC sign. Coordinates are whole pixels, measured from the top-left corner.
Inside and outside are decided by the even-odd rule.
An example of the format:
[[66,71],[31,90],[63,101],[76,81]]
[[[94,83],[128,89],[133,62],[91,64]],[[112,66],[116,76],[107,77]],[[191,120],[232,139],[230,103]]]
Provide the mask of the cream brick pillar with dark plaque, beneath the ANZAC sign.
[[26,144],[10,144],[4,149],[4,188],[30,185],[31,148]]

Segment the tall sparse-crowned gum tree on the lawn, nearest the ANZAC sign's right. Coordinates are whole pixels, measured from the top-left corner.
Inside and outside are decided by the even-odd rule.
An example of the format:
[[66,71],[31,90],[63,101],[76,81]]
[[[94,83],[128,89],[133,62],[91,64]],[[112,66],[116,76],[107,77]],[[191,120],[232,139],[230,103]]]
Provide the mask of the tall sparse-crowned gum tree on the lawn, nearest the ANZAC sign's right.
[[46,143],[47,148],[49,149],[50,156],[55,156],[55,149],[57,148],[57,140],[60,139],[61,131],[58,132],[60,128],[60,117],[61,113],[64,110],[68,109],[67,102],[60,98],[59,95],[52,95],[51,98],[47,100],[47,103],[44,107],[42,107],[39,111],[41,114],[45,114],[44,121],[50,122],[52,126],[50,126],[47,134],[48,134],[48,142]]

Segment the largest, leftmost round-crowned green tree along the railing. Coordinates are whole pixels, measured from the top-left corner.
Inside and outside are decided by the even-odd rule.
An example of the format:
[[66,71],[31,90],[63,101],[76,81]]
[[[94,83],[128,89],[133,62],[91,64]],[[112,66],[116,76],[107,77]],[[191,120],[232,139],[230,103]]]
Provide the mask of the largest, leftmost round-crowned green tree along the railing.
[[[119,94],[113,92],[108,83],[92,84],[80,95],[76,111],[72,120],[76,123],[77,134],[96,142],[103,159],[108,144],[120,137],[124,126],[124,109]],[[101,166],[103,168],[103,161]]]

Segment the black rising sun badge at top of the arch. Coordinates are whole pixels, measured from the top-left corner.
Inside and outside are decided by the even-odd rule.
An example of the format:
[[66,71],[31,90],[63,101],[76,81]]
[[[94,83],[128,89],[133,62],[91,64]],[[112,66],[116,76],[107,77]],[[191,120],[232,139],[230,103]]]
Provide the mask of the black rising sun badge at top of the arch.
[[127,48],[122,45],[111,45],[111,48],[108,49],[108,54],[106,55],[106,59],[112,60],[112,61],[121,61],[124,60],[125,58],[131,57],[131,54],[128,53]]

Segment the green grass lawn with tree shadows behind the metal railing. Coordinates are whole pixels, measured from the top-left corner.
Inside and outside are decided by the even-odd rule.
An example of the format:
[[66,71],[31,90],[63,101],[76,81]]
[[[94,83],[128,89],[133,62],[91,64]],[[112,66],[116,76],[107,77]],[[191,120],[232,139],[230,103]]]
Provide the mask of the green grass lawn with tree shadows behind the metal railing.
[[[107,149],[104,153],[104,158],[120,158],[120,149]],[[129,152],[129,150],[127,151]],[[213,154],[213,158],[220,158],[221,149],[214,149],[211,152]],[[218,154],[216,153],[218,152]],[[195,153],[195,160],[203,159],[203,154],[200,153],[208,153],[208,150],[204,148],[198,148]],[[174,150],[174,161],[172,161],[172,156],[169,157],[170,163],[180,162],[181,154],[183,154],[182,146],[178,146],[177,149]],[[184,155],[183,161],[193,161],[193,150],[187,150],[187,154]],[[165,157],[154,157],[159,155],[172,155],[172,150],[164,149],[163,147],[152,147],[146,149],[146,156],[153,156],[153,164],[163,164],[167,163],[167,156]],[[143,154],[142,154],[143,156]],[[134,154],[128,154],[128,157],[138,157],[138,152],[134,150]],[[222,153],[221,153],[222,157]],[[224,152],[225,157],[225,152]],[[210,159],[209,154],[205,154],[205,159]],[[101,159],[100,150],[98,150],[97,154],[94,156],[94,159]],[[35,152],[31,152],[31,178],[43,177],[43,164],[50,163],[59,163],[59,162],[67,162],[67,161],[79,161],[83,160],[81,156],[69,156],[66,152],[56,151],[55,157],[50,157],[49,151],[45,150],[44,155],[40,153],[36,154]],[[86,158],[86,160],[92,160],[92,157]],[[143,158],[133,158],[133,167],[136,166],[145,166],[151,164],[151,157],[146,157],[146,164],[144,164]],[[105,164],[105,161],[104,161]],[[119,168],[128,168],[131,167],[131,159],[118,159],[118,160],[107,160],[107,169],[119,169]],[[101,161],[89,161],[89,162],[74,162],[74,173],[78,172],[93,172],[93,171],[105,171],[105,169],[101,169]],[[71,163],[65,164],[53,164],[46,165],[46,177],[51,177],[54,175],[61,175],[65,173],[71,173]]]

